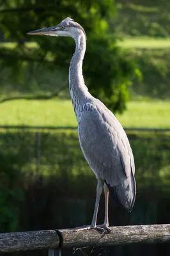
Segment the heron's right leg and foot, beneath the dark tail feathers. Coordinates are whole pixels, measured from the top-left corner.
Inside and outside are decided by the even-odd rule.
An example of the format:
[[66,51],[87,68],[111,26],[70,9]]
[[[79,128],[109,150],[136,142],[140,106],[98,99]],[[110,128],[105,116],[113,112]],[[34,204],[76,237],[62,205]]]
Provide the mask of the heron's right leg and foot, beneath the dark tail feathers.
[[108,218],[108,207],[109,207],[109,188],[104,183],[104,197],[105,197],[105,217],[104,224],[98,225],[100,228],[104,228],[107,232],[111,233],[112,230],[109,228],[109,218]]

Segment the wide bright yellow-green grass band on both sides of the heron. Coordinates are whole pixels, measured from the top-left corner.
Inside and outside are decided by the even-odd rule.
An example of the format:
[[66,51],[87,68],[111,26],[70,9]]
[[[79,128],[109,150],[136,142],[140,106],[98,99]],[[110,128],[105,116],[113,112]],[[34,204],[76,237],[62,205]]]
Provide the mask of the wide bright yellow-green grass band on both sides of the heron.
[[[170,104],[128,102],[116,115],[123,127],[170,128]],[[0,105],[0,125],[77,126],[71,100],[13,100]]]

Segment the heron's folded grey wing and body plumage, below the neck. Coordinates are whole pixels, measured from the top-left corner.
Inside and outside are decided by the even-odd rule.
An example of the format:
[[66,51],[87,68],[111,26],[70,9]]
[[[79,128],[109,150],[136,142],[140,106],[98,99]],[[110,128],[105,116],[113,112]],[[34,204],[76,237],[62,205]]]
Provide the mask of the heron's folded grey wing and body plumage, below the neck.
[[123,127],[103,106],[84,104],[79,120],[80,145],[91,169],[104,179],[114,200],[130,210],[135,200],[134,157]]

